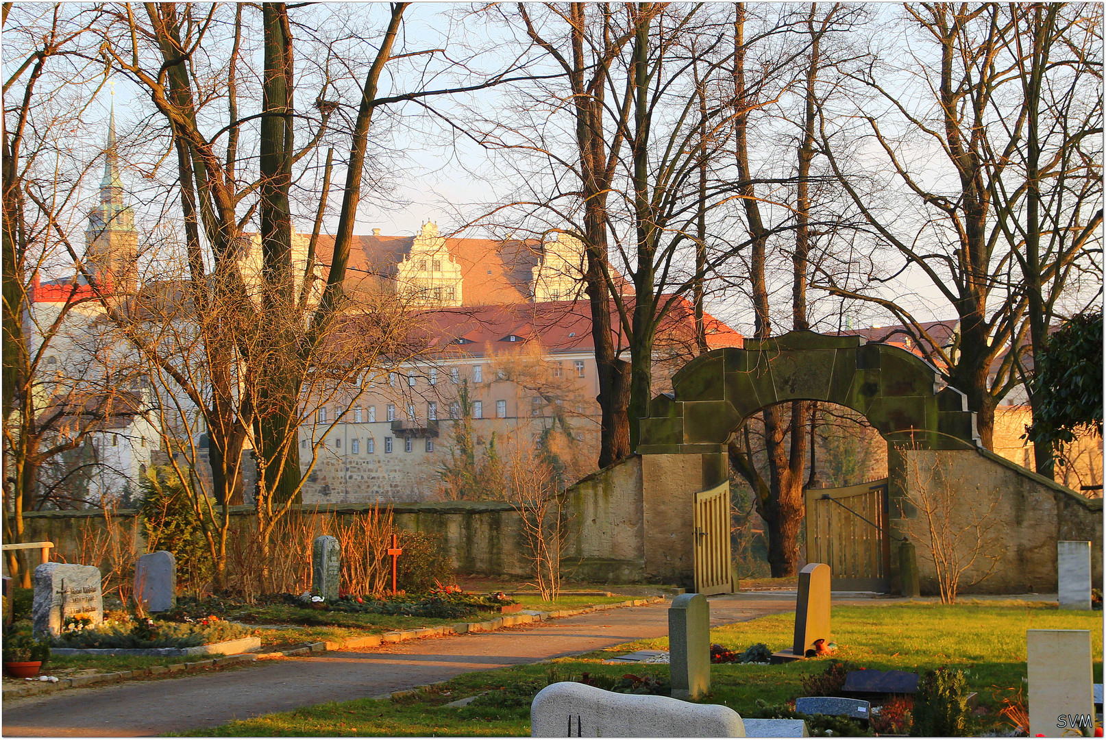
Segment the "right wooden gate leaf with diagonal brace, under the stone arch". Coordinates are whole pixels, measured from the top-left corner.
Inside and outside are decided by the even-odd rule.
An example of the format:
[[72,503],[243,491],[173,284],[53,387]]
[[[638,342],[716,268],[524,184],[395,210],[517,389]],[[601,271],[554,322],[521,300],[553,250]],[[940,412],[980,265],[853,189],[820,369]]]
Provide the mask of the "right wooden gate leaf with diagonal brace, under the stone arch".
[[890,592],[887,479],[807,489],[806,562],[825,563],[835,591]]

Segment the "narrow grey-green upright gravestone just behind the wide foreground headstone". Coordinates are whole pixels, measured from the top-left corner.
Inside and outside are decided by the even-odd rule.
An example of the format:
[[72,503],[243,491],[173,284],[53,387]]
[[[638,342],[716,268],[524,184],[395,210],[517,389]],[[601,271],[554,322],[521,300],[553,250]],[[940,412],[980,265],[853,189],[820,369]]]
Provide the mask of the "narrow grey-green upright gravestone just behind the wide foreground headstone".
[[680,594],[668,607],[668,655],[674,697],[710,690],[710,604],[702,594]]

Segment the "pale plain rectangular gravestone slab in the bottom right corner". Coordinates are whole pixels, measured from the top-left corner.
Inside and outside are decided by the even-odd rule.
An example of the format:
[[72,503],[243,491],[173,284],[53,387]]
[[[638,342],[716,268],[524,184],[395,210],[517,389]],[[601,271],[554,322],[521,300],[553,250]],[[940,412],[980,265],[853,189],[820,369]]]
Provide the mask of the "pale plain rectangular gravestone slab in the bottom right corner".
[[[1027,629],[1030,737],[1094,729],[1095,697],[1088,629]],[[1066,730],[1066,732],[1065,732]]]

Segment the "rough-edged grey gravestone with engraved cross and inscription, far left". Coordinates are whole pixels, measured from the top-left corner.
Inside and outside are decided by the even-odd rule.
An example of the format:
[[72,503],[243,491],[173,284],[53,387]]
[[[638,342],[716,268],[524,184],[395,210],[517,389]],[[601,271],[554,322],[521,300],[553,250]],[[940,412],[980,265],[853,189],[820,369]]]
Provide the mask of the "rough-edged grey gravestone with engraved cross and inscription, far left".
[[35,636],[58,635],[71,616],[84,615],[92,625],[104,621],[100,569],[92,565],[43,563],[34,569]]

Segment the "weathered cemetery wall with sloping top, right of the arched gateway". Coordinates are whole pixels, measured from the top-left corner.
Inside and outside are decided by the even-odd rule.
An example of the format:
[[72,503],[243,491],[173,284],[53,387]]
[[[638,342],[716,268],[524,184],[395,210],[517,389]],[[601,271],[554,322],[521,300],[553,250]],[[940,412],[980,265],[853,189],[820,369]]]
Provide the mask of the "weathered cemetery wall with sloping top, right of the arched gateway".
[[[952,493],[940,513],[953,531],[961,530],[961,548],[978,540],[975,522],[985,525],[988,539],[997,540],[987,548],[988,553],[999,555],[994,572],[975,585],[963,585],[961,593],[1055,593],[1058,540],[1089,541],[1093,577],[1102,581],[1102,499],[1079,496],[989,450],[906,450],[889,459],[889,523],[894,533],[908,534],[917,546],[922,594],[937,594],[938,586],[925,552],[925,518],[908,490],[919,486],[909,472],[915,465],[939,472],[921,481],[935,489],[931,493],[942,487]],[[912,497],[917,500],[919,494]],[[990,559],[979,559],[961,583],[979,579],[990,565]]]

